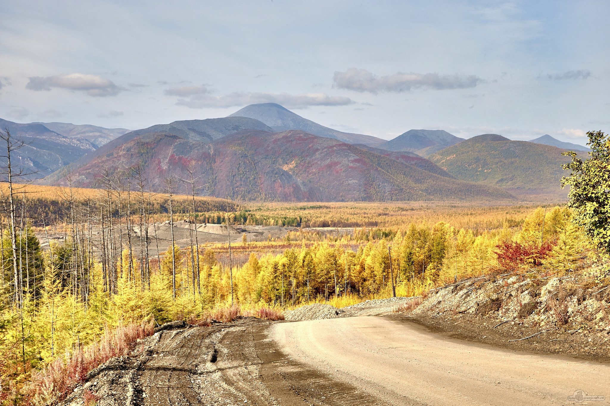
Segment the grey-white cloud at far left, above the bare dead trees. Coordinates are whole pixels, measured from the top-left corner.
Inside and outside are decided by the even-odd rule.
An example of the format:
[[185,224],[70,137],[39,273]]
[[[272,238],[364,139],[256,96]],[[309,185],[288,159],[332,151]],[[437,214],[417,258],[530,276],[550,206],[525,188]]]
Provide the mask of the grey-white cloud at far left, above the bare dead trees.
[[106,97],[116,96],[121,91],[126,90],[115,85],[110,79],[98,75],[87,75],[82,73],[47,77],[34,76],[28,79],[30,81],[27,83],[26,89],[35,91],[49,91],[51,88],[62,88],[74,91],[84,91],[92,97]]

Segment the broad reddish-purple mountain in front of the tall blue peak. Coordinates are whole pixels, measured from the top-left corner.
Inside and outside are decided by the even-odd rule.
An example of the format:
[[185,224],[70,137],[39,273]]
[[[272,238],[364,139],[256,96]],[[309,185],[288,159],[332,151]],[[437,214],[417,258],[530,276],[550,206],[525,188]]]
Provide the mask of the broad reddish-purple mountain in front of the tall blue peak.
[[[437,175],[338,139],[300,130],[242,130],[212,142],[146,133],[75,170],[72,184],[100,186],[96,182],[102,175],[112,175],[135,164],[142,166],[148,186],[154,191],[165,188],[165,178],[189,178],[192,167],[193,176],[200,177],[199,183],[206,185],[201,195],[234,200],[513,199],[496,186]],[[66,186],[67,181],[63,178],[56,184]]]

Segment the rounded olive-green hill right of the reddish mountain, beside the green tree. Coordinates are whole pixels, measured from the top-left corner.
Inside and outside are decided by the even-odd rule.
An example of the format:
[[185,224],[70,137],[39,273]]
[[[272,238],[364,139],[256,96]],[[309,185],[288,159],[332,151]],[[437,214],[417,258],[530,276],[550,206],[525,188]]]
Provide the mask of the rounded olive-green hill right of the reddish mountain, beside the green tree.
[[[502,187],[514,195],[565,197],[561,165],[570,161],[565,149],[497,134],[468,138],[433,153],[429,159],[454,177]],[[584,156],[581,156],[584,158]]]

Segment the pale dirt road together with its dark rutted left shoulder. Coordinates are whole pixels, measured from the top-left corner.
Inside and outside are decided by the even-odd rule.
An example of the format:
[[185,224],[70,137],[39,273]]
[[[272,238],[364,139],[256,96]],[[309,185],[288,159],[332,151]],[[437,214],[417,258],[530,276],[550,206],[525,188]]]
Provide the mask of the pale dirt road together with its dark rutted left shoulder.
[[404,315],[342,316],[175,322],[92,371],[60,406],[87,393],[98,406],[561,405],[576,390],[610,400],[608,363],[458,340]]

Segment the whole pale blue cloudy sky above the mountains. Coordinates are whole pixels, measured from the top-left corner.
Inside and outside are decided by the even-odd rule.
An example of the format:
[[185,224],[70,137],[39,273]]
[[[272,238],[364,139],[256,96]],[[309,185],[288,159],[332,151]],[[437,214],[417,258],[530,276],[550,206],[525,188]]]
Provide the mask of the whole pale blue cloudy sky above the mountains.
[[135,130],[276,102],[341,131],[610,131],[608,1],[0,3],[0,117]]

